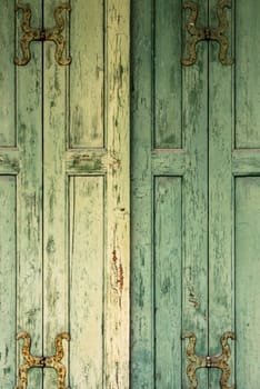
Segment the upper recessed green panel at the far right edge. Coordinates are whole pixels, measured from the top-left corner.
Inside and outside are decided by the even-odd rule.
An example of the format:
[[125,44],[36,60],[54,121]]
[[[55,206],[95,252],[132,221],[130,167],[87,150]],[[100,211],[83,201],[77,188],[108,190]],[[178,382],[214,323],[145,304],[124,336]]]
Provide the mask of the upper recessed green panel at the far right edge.
[[236,11],[236,147],[256,149],[260,148],[260,32],[256,17],[260,3],[237,1]]

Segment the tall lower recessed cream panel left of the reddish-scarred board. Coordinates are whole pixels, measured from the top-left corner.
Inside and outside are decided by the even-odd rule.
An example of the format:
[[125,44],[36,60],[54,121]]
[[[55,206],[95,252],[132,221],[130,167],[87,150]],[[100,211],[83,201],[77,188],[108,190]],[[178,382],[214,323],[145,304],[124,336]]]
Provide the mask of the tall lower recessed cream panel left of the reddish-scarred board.
[[70,178],[70,385],[103,386],[103,177]]

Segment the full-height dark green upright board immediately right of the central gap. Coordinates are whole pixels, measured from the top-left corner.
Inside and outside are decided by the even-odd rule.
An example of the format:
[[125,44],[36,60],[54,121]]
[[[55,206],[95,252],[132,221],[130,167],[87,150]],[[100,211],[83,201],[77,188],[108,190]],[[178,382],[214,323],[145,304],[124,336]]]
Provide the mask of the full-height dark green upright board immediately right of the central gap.
[[131,388],[153,388],[152,6],[132,1]]

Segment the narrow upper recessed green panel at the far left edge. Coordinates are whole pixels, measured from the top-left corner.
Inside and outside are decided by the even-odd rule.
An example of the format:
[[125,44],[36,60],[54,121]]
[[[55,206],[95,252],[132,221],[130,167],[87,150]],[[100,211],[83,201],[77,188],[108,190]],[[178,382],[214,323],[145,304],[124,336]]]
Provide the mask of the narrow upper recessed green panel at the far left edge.
[[14,58],[14,1],[2,0],[0,7],[0,92],[4,103],[0,104],[0,147],[17,144],[16,133],[16,67]]

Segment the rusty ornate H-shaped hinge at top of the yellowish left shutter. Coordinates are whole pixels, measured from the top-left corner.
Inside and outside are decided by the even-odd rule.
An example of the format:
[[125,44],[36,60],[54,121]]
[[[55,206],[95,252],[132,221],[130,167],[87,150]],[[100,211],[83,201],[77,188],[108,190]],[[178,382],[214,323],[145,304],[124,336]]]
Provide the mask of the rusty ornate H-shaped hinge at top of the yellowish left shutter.
[[56,43],[56,61],[59,64],[69,64],[71,62],[71,57],[63,58],[63,51],[66,47],[66,40],[61,32],[64,29],[64,19],[62,18],[62,11],[71,11],[69,4],[60,4],[54,9],[56,26],[49,29],[32,28],[31,21],[31,9],[29,4],[18,3],[16,7],[16,12],[19,10],[23,11],[23,18],[21,21],[21,29],[23,34],[20,39],[20,46],[22,51],[22,58],[14,58],[16,64],[27,64],[31,59],[30,43],[34,41],[49,40]]

